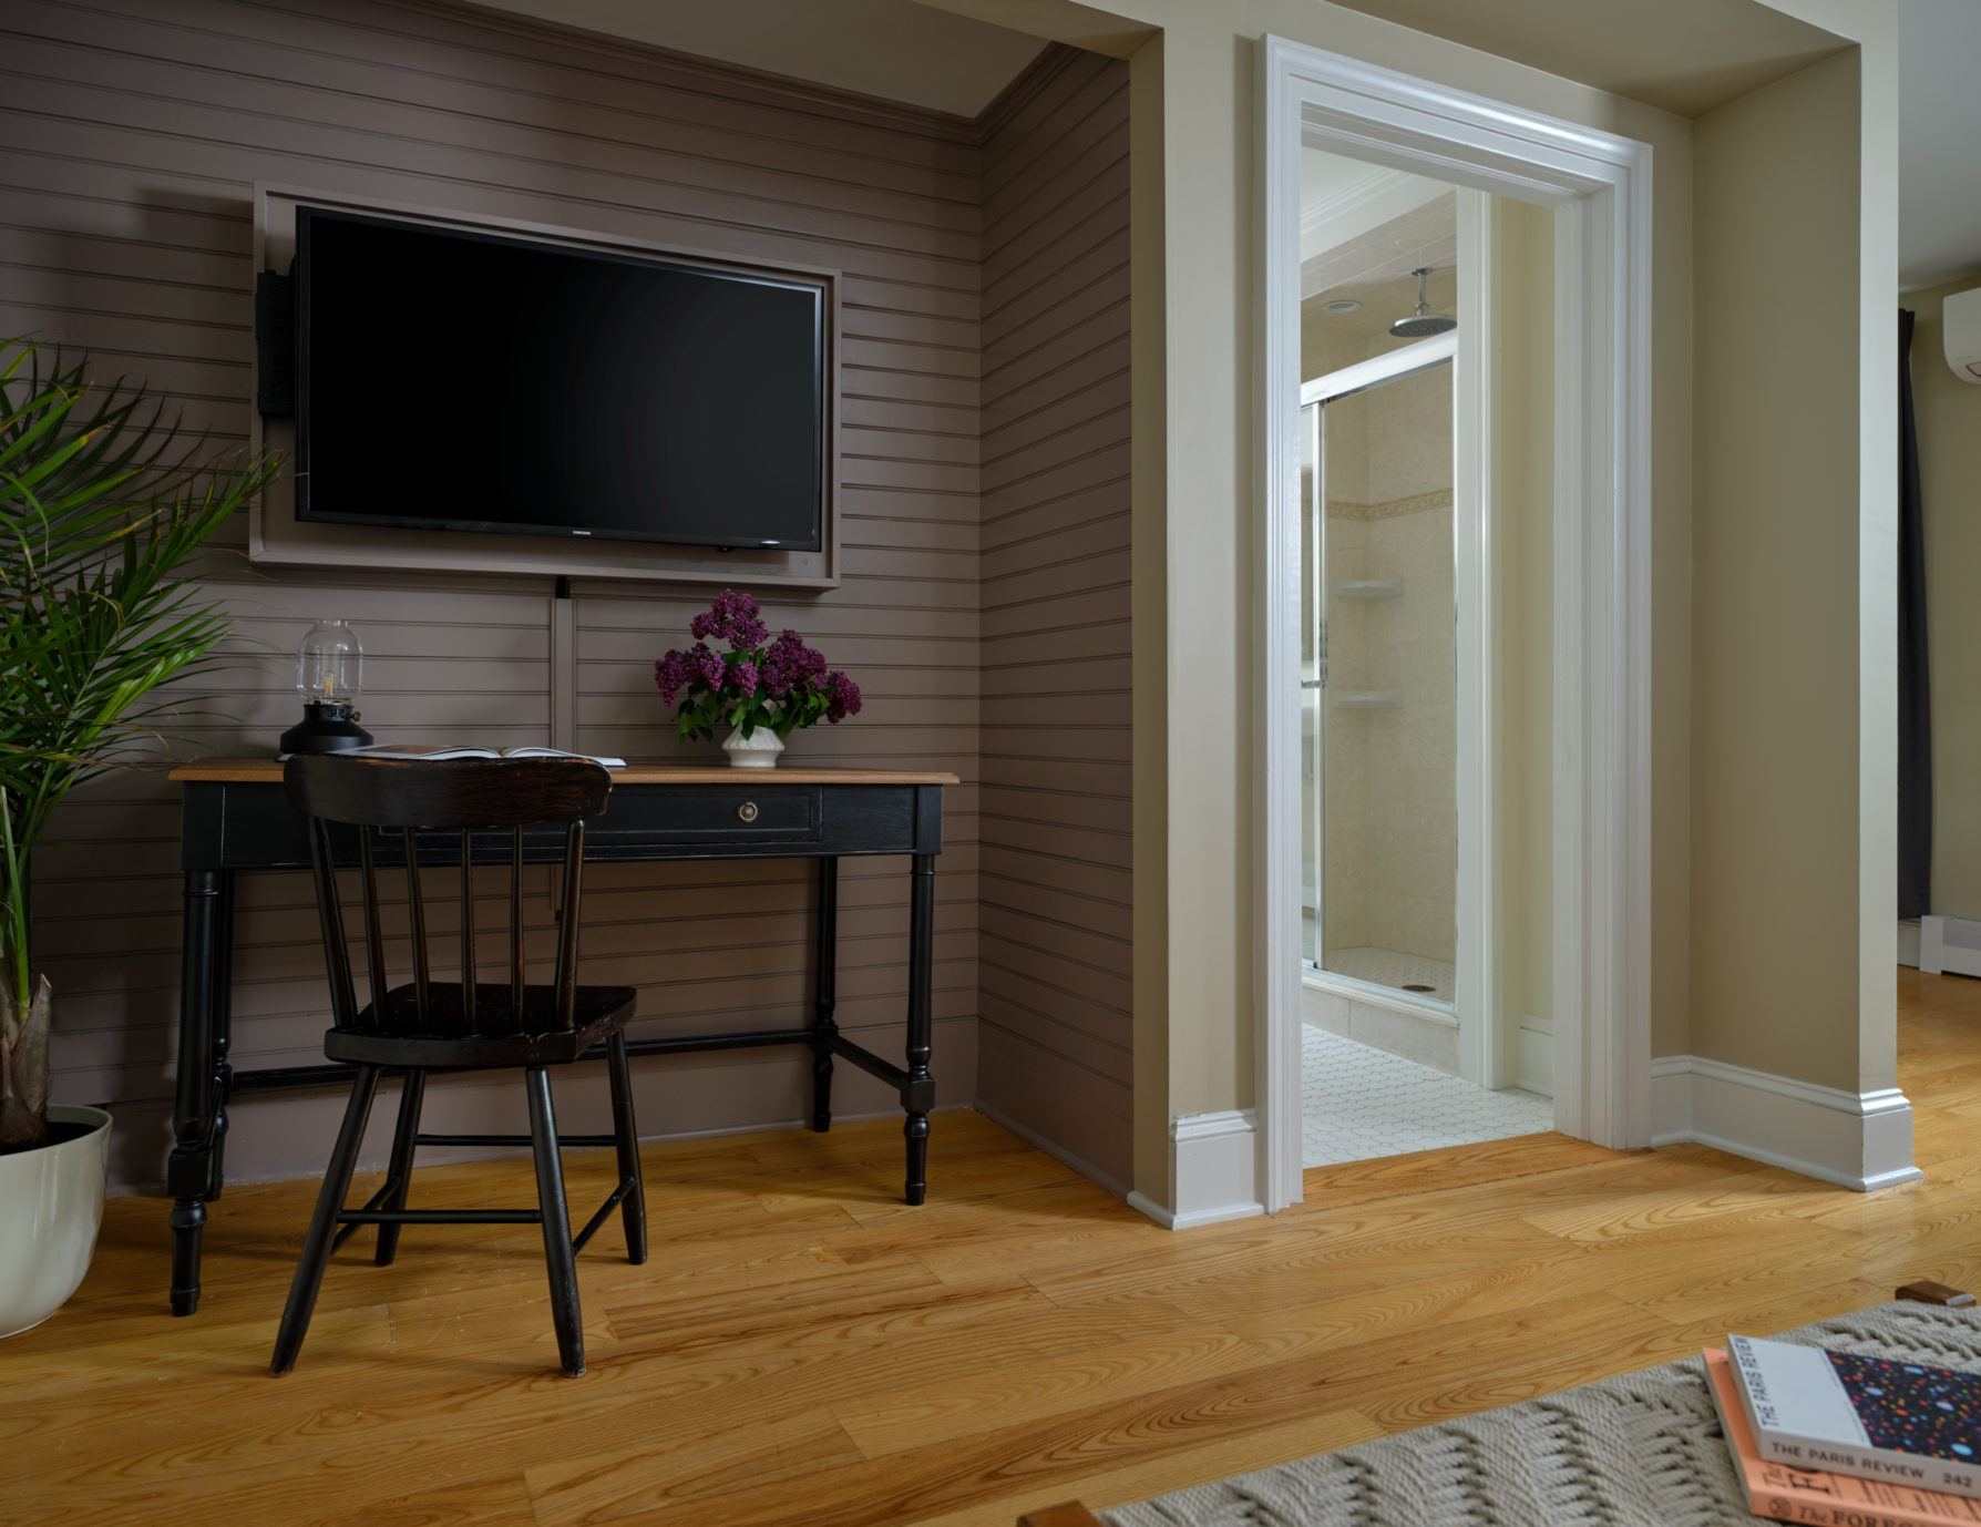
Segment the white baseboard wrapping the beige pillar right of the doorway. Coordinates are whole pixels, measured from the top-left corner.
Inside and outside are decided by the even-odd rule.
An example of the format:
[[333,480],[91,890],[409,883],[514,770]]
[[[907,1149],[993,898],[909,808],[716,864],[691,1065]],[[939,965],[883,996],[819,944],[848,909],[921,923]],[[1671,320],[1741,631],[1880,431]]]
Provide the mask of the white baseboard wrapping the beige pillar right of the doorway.
[[1650,1131],[1652,1145],[1710,1145],[1858,1192],[1924,1176],[1912,1165],[1912,1103],[1898,1087],[1854,1093],[1660,1056],[1650,1064]]

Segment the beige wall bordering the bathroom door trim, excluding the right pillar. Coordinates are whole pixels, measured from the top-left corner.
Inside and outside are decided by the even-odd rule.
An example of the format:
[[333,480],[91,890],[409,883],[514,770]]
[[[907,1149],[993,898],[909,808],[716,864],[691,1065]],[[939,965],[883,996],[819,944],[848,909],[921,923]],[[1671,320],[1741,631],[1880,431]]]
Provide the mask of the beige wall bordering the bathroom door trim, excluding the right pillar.
[[[1022,8],[1002,0],[939,4],[1068,40],[1095,28],[1092,10],[1046,0]],[[1323,0],[1115,0],[1107,10],[1161,28],[1159,44],[1131,57],[1137,107],[1151,105],[1149,113],[1137,109],[1133,127],[1135,1165],[1137,1186],[1167,1202],[1171,1121],[1250,1107],[1254,1077],[1256,40],[1272,32],[1654,147],[1658,824],[1686,820],[1690,788],[1692,127],[1666,111]],[[1151,248],[1157,240],[1145,210],[1161,218],[1159,248]],[[1145,285],[1155,281],[1159,289]],[[1187,364],[1169,364],[1171,356]],[[1161,612],[1163,622],[1143,620],[1145,610]],[[1161,685],[1161,713],[1153,685]],[[1676,826],[1654,832],[1652,1006],[1660,1052],[1682,1050],[1686,1034],[1686,850],[1674,838],[1684,838]]]

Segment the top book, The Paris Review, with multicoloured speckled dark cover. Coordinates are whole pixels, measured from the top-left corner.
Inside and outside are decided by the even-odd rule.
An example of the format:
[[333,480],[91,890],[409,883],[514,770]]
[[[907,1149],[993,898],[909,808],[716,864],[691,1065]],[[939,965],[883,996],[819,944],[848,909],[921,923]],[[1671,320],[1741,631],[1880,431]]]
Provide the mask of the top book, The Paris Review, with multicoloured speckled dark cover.
[[1981,1497],[1981,1374],[1755,1337],[1727,1359],[1771,1464]]

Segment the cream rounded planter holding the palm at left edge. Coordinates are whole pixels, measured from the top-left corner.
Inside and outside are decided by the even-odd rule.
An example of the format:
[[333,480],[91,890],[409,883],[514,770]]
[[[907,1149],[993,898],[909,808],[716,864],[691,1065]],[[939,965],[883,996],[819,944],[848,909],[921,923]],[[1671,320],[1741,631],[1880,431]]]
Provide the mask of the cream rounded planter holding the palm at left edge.
[[52,1103],[48,1117],[95,1129],[0,1157],[0,1337],[20,1335],[61,1309],[89,1272],[103,1224],[111,1115]]

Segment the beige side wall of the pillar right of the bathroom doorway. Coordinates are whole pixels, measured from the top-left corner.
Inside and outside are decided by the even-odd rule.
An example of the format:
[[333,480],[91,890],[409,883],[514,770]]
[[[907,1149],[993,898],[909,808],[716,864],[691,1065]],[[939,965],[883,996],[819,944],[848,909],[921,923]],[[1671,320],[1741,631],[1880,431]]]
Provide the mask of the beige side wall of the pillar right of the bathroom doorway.
[[[1852,50],[1708,113],[1694,139],[1690,1046],[1850,1091],[1892,1081],[1860,1034],[1860,879],[1878,871],[1860,834],[1888,768],[1860,729],[1890,703],[1890,671],[1880,695],[1860,652],[1890,648],[1892,614],[1862,586],[1890,572],[1892,491],[1890,456],[1882,513],[1860,471],[1880,402],[1860,380],[1862,137]],[[1880,275],[1890,293],[1896,259]],[[1890,939],[1890,901],[1882,923]]]

